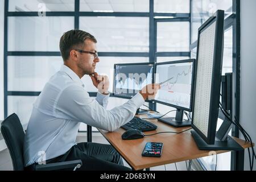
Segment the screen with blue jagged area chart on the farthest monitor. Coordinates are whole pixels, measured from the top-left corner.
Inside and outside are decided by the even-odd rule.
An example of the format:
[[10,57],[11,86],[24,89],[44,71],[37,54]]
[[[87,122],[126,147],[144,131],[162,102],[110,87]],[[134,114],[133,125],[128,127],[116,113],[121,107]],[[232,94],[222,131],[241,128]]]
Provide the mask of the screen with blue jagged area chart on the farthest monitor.
[[114,96],[131,98],[146,86],[152,84],[154,64],[134,63],[114,65]]

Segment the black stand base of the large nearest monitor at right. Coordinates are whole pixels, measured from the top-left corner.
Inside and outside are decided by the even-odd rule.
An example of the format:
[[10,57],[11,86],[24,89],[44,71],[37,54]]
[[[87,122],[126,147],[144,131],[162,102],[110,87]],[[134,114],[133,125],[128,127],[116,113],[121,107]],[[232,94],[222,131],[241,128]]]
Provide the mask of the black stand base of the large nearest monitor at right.
[[199,150],[243,150],[243,148],[238,144],[232,137],[227,136],[225,141],[215,140],[214,144],[207,144],[196,131],[191,131],[192,137],[194,138]]

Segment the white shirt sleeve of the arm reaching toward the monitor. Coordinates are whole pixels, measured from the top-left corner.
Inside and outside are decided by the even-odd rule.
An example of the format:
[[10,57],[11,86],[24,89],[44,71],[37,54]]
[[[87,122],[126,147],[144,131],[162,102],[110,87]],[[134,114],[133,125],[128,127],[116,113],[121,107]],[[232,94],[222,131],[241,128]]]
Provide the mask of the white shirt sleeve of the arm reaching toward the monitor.
[[137,93],[125,104],[106,110],[80,86],[69,86],[60,94],[54,113],[56,117],[114,131],[129,122],[143,104],[143,97]]

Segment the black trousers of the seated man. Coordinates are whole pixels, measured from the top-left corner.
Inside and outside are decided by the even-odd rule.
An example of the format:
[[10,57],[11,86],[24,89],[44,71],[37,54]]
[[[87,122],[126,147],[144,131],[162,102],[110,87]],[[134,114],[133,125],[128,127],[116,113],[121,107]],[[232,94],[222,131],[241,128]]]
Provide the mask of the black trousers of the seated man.
[[[123,166],[122,157],[109,144],[82,142],[71,147],[64,155],[49,159],[46,163],[64,162],[69,160],[82,160],[81,168],[86,171],[127,171]],[[72,170],[72,169],[69,169]]]

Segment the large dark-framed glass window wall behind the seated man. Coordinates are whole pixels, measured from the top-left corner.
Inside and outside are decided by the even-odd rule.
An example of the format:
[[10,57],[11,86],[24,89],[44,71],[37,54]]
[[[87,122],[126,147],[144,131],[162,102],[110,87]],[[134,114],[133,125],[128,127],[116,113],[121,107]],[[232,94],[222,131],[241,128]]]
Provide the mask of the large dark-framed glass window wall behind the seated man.
[[[79,28],[96,37],[100,57],[96,71],[109,76],[110,92],[115,63],[170,61],[190,56],[189,0],[6,1],[5,117],[16,112],[24,123],[28,122],[32,103],[43,86],[63,64],[59,40],[68,30]],[[159,22],[156,16],[171,20]],[[88,92],[96,96],[97,89],[90,78],[84,76],[82,81]],[[155,108],[155,104],[149,105]]]

